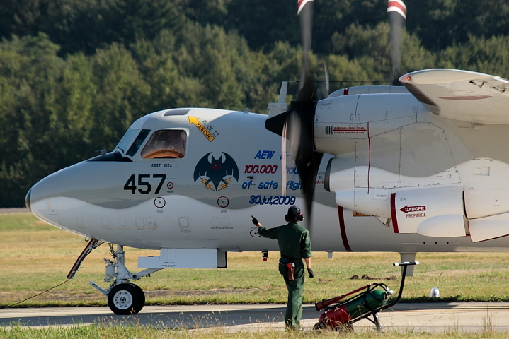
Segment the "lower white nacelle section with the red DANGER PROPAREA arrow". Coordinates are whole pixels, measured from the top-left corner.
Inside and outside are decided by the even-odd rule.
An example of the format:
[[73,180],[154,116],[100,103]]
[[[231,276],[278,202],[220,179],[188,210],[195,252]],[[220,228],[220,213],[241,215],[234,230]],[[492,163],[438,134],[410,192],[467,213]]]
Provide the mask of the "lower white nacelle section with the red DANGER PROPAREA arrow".
[[[390,219],[395,233],[418,233],[428,237],[466,235],[463,186],[458,178],[401,177],[377,167],[341,168],[342,159],[328,164],[325,188],[336,194],[338,206],[364,215]],[[357,177],[377,178],[374,186],[356,184]],[[400,186],[403,181],[408,186]],[[382,184],[387,183],[387,184]]]

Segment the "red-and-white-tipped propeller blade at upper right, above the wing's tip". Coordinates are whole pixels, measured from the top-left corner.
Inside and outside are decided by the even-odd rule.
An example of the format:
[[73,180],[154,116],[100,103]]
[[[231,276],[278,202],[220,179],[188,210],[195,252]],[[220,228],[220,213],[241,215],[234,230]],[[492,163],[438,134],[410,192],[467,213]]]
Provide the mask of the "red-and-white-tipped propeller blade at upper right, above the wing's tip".
[[406,25],[406,6],[402,0],[389,0],[387,2],[387,14],[389,16],[389,25],[391,27],[391,62],[392,73],[389,81],[391,85],[401,85],[398,81],[401,73],[399,65],[401,64],[401,33]]

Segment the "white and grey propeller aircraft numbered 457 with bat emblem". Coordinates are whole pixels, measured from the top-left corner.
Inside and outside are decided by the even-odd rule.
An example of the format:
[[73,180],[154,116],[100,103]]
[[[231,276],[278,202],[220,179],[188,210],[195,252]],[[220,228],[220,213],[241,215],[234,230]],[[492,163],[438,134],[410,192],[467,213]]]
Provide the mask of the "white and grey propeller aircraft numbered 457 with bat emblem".
[[[402,1],[389,0],[391,12],[406,15]],[[307,209],[314,251],[391,251],[401,261],[417,252],[508,251],[509,81],[430,69],[399,77],[405,87],[345,88],[317,100],[307,69],[310,13],[312,2],[299,1],[304,70],[289,107],[283,83],[269,115],[154,112],[112,152],[28,191],[35,216],[90,239],[68,278],[109,243],[110,286],[91,285],[115,314],[137,313],[144,293],[132,281],[164,268],[226,267],[231,251],[277,251],[251,215],[277,225],[292,205]],[[160,255],[139,258],[144,270],[131,273],[124,246]]]

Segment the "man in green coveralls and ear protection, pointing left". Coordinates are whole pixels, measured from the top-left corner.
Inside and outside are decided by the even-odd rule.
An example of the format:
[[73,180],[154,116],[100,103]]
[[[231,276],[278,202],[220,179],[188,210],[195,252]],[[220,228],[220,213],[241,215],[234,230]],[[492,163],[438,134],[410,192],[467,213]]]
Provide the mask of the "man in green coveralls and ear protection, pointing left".
[[269,229],[263,227],[255,217],[252,221],[253,224],[258,226],[258,234],[262,237],[278,240],[281,258],[286,259],[287,263],[294,266],[293,279],[291,276],[289,278],[288,275],[283,275],[288,289],[285,328],[299,330],[300,319],[302,318],[302,290],[304,290],[304,264],[302,259],[306,263],[309,278],[314,278],[314,272],[311,270],[311,243],[309,232],[299,225],[299,221],[304,220],[304,215],[300,213],[297,206],[288,208],[285,220],[288,222],[287,225]]

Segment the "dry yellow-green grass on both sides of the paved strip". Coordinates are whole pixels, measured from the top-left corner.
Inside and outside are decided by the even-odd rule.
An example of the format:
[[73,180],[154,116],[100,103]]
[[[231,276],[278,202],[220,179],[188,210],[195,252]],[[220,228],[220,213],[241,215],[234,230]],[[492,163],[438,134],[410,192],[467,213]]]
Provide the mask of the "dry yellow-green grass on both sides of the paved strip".
[[[55,287],[86,245],[83,238],[46,225],[30,214],[0,215],[0,307],[20,302]],[[159,251],[126,248],[127,268],[137,270],[138,256],[159,255]],[[109,257],[105,244],[94,250],[73,280],[17,307],[106,305],[106,298],[88,285],[90,280],[102,287],[104,262]],[[418,301],[503,301],[509,302],[509,254],[454,253],[418,254],[421,262],[413,277],[407,278],[402,302]],[[278,254],[270,253],[267,262],[261,253],[231,253],[228,268],[217,270],[162,270],[137,281],[147,296],[147,304],[265,304],[285,303],[286,289],[277,271]],[[314,253],[316,278],[307,279],[304,302],[336,297],[368,283],[399,287],[399,261],[394,253],[335,253],[327,258]],[[370,275],[374,280],[352,279]],[[439,287],[440,299],[430,298],[432,287]],[[489,332],[489,331],[488,331]],[[506,338],[508,333],[348,333],[343,338]],[[146,326],[72,326],[70,328],[1,328],[0,338],[336,338],[338,333],[212,333],[161,331]]]

